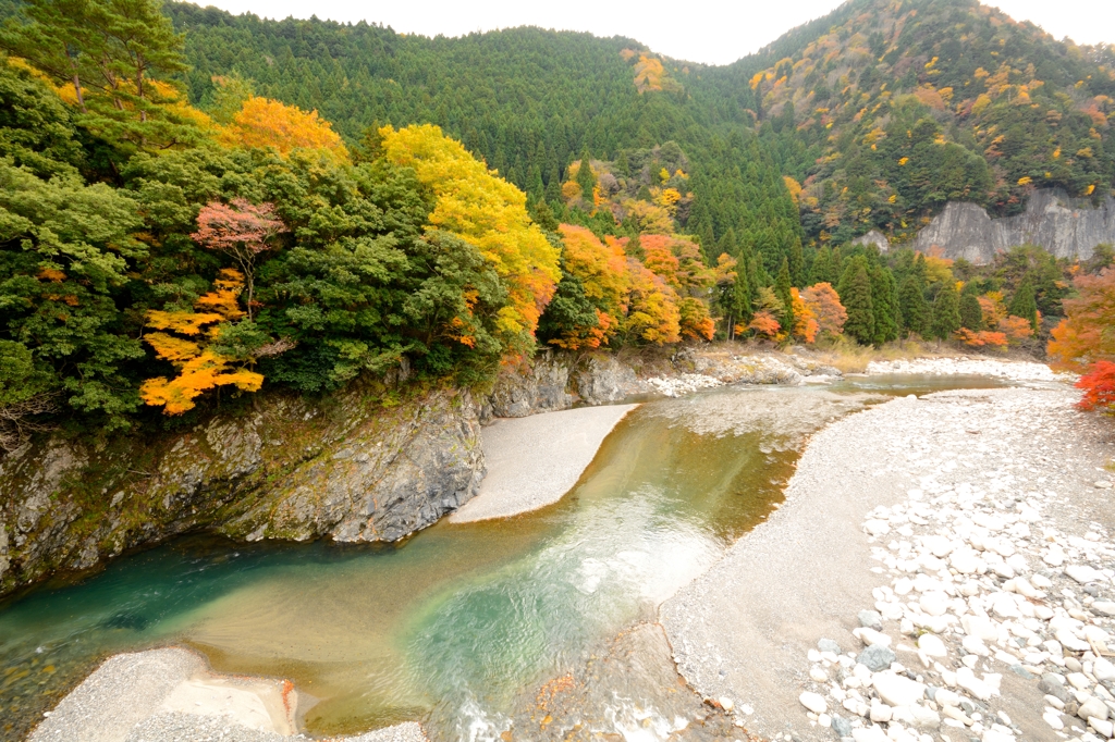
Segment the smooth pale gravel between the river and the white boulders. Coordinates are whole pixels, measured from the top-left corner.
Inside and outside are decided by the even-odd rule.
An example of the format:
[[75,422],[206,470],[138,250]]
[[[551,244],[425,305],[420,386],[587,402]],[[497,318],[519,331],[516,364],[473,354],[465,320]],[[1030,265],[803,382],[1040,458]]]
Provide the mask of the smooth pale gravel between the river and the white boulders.
[[[987,486],[992,492],[1009,488],[1017,491],[1018,497],[1024,494],[1032,497],[1036,490],[1050,502],[1093,507],[1104,514],[1093,517],[1111,519],[1106,501],[1088,500],[1101,491],[1093,482],[1098,476],[1097,467],[1109,459],[1109,449],[1105,452],[1103,443],[1083,445],[1096,433],[1089,428],[1094,422],[1073,409],[1076,399],[1073,391],[1056,388],[942,392],[922,399],[894,400],[853,414],[817,433],[787,488],[785,505],[768,523],[736,543],[708,573],[662,606],[661,621],[681,674],[699,693],[734,701],[754,733],[776,740],[783,735],[789,739],[791,733],[794,739],[834,739],[834,730],[818,724],[816,713],[806,716],[799,700],[803,690],[817,691],[818,697],[831,692],[826,683],[814,682],[821,675],[835,673],[837,681],[845,677],[843,672],[836,672],[842,664],[824,663],[822,667],[814,656],[818,640],[835,640],[844,652],[862,652],[863,643],[851,634],[864,621],[859,612],[879,606],[878,596],[886,595],[885,590],[879,592],[881,586],[899,580],[880,565],[881,545],[871,533],[865,533],[865,519],[875,517],[872,514],[880,512],[876,510],[880,506],[904,504],[909,491],[917,494],[919,487],[930,485],[941,491],[951,491],[953,486],[959,491]],[[981,431],[988,437],[977,438]],[[1068,458],[1066,448],[1073,453],[1067,465],[1050,457],[1059,449],[1059,455]],[[1014,504],[1011,497],[1010,505]],[[900,508],[894,510],[898,512]],[[1066,518],[1070,512],[1064,505],[1056,511],[1054,518]],[[940,519],[925,521],[925,528],[930,529],[927,533],[932,533],[933,523],[952,516],[946,506]],[[1066,524],[1066,528],[1082,534],[1084,530],[1084,526],[1075,521]],[[910,538],[912,533],[903,529],[902,535],[893,537],[915,540]],[[890,548],[898,547],[896,541],[891,541]],[[929,572],[920,564],[911,562],[909,565],[917,573]],[[1029,566],[1037,569],[1045,565],[1031,562]],[[954,569],[951,572],[949,579],[957,575]],[[942,575],[948,573],[946,568]],[[910,575],[915,576],[923,577]],[[961,574],[956,579],[962,577]],[[981,584],[979,589],[992,593],[1000,589],[1004,580],[993,575],[992,578],[985,580],[986,586]],[[957,585],[959,587],[960,583]],[[903,605],[884,607],[896,612],[891,616],[894,618],[900,614],[905,616]],[[973,603],[971,609],[979,611],[980,605]],[[966,608],[961,606],[961,609]],[[917,634],[924,631],[921,626],[903,624],[902,627],[913,632],[911,638],[900,632],[898,621],[886,621],[882,627],[895,640],[892,646],[898,650],[903,647],[902,642],[917,645]],[[962,635],[960,632],[952,637],[949,629],[946,638],[959,643]],[[1004,648],[1010,650],[1007,645]],[[923,686],[946,687],[951,680],[954,687],[956,672],[950,667],[953,662],[960,666],[963,651],[956,656],[942,655],[940,662],[948,667],[935,668],[933,665],[923,667],[917,648],[906,646],[906,650],[911,654],[903,655],[900,651],[898,661],[915,667],[910,671],[911,676],[917,676]],[[977,657],[969,660],[972,658]],[[813,667],[811,661],[816,663]],[[854,660],[850,662],[855,664]],[[1001,683],[1001,696],[995,699],[995,713],[1001,710],[1012,720],[1014,729],[1018,730],[1014,733],[1031,739],[1057,739],[1043,720],[1043,692],[1036,676],[1031,674],[1030,680],[1024,681],[1018,673],[1005,673],[1006,665],[998,667],[987,670],[1001,675],[996,678]],[[977,670],[983,670],[983,665]],[[871,682],[870,673],[867,682]],[[855,685],[845,684],[844,687],[851,686]],[[864,691],[864,699],[871,695],[866,693],[870,690],[869,686]],[[844,690],[837,689],[834,695],[843,693]],[[838,713],[845,720],[863,724],[856,730],[857,741],[861,732],[864,740],[875,739],[869,732],[874,734],[876,731],[881,739],[886,739],[880,728],[872,728],[874,720],[860,719],[850,713],[846,705],[841,707],[833,697],[823,700],[830,714]],[[859,703],[852,705],[859,707]],[[871,701],[871,704],[878,703],[878,700]],[[946,711],[935,704],[932,707]],[[990,729],[992,721],[998,723],[1001,719],[988,719],[989,713],[985,710],[983,719]],[[823,721],[830,719],[826,716]],[[967,721],[972,723],[971,717]],[[938,715],[935,725],[940,724]],[[930,738],[924,735],[928,729],[921,731],[922,742],[938,739],[935,725],[931,724],[934,731]],[[944,728],[941,731],[944,732]],[[951,733],[953,740],[963,739],[957,735],[958,730]],[[985,742],[1010,739],[1009,734],[996,738],[995,733],[983,736]],[[918,739],[917,732],[912,739]]]

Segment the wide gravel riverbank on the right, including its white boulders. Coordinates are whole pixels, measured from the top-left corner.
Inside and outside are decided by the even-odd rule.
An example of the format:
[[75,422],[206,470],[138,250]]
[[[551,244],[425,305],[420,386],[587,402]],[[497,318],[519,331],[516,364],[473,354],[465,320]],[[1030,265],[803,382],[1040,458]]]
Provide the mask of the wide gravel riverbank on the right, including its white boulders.
[[1115,451],[1076,399],[942,392],[817,433],[779,510],[662,606],[681,674],[772,739],[1094,742],[1080,709],[1111,736],[1088,638],[1112,641]]

